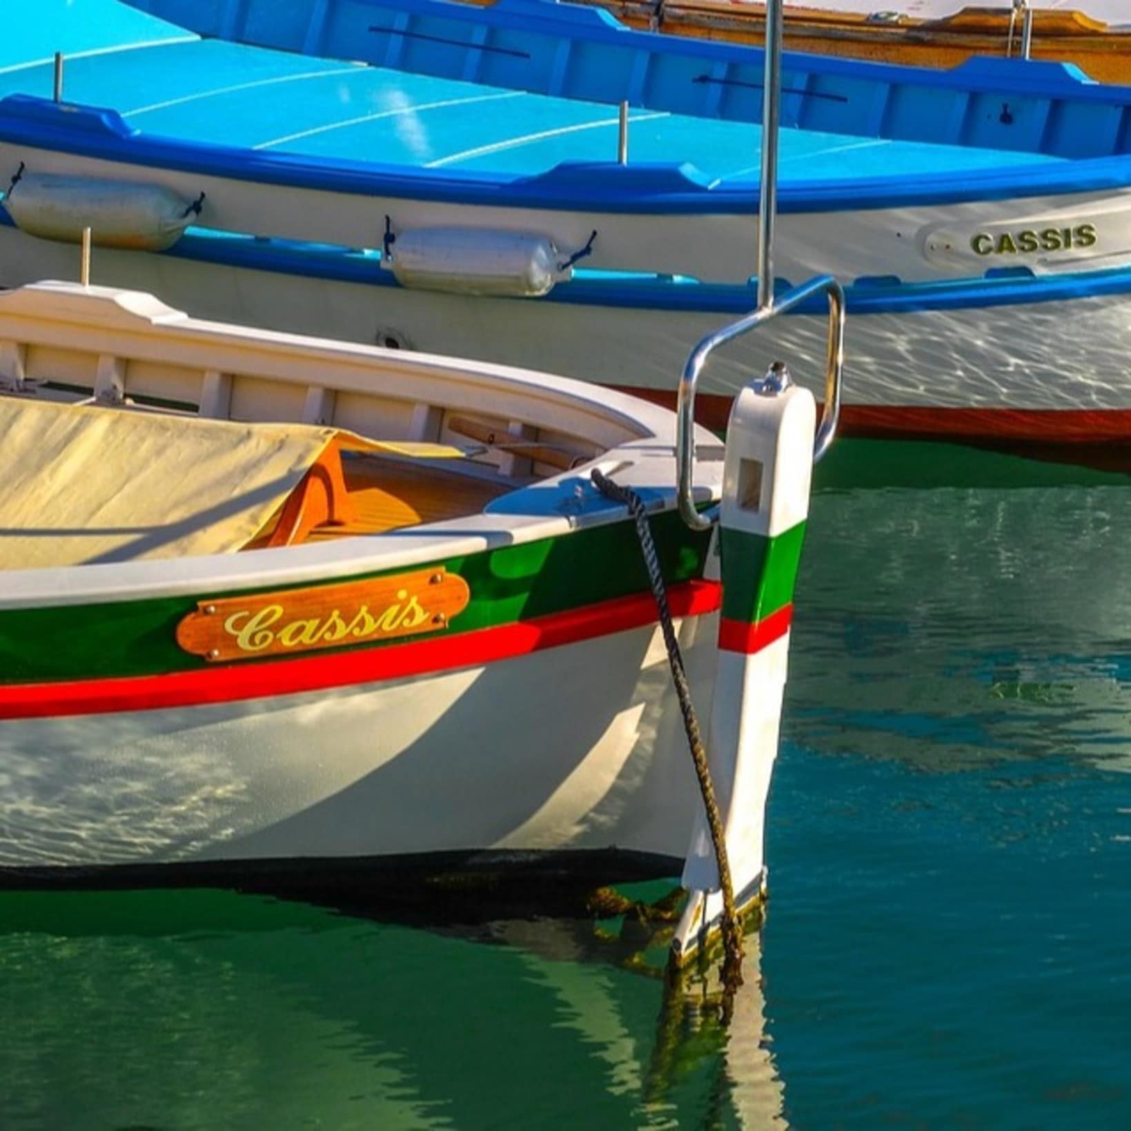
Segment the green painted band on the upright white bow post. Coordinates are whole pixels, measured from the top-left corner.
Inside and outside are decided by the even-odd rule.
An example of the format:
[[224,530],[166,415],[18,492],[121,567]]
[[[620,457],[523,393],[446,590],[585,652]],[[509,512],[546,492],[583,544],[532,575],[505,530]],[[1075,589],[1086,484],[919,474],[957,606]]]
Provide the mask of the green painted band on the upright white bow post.
[[[803,521],[772,538],[725,528],[719,535],[723,616],[753,624],[793,601],[805,539]],[[729,562],[736,566],[728,568]]]

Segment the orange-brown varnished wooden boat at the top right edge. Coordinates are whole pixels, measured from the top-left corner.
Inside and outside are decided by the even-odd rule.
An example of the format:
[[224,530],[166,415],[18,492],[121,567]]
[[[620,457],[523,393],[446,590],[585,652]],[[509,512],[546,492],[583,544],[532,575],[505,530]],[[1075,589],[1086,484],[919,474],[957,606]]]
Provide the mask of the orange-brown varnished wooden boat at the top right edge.
[[[766,8],[757,0],[579,0],[612,12],[629,27],[727,43],[760,45]],[[1115,3],[1077,0],[1055,9],[996,3],[809,0],[786,6],[791,51],[869,59],[908,67],[957,67],[973,55],[1022,53],[1025,12],[1031,11],[1031,58],[1074,63],[1100,83],[1131,83],[1131,25]]]

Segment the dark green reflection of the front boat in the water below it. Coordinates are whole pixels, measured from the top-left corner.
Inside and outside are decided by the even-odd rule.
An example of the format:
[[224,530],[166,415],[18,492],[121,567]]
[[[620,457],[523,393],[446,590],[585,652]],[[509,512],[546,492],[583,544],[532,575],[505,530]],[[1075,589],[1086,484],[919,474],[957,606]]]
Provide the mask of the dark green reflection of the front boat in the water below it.
[[784,1125],[757,938],[725,1027],[592,923],[473,940],[201,890],[6,893],[0,923],[8,1128]]

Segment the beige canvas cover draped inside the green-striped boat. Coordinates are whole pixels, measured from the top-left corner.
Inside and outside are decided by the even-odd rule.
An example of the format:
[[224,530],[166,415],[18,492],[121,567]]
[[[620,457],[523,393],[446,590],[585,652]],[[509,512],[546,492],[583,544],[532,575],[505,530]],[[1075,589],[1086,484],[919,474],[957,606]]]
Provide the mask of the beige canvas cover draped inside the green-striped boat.
[[337,434],[0,397],[0,569],[239,550]]

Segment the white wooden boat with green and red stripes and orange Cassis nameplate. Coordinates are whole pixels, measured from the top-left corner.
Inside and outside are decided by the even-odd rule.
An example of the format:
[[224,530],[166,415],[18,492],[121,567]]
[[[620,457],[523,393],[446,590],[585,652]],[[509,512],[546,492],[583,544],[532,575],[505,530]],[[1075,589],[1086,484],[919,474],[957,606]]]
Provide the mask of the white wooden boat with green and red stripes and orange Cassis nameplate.
[[651,512],[734,887],[759,896],[808,391],[751,382],[724,447],[581,382],[69,283],[0,294],[0,881],[687,862],[688,943],[718,880],[599,469]]

